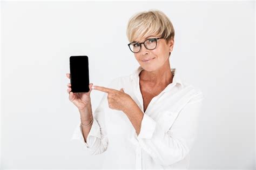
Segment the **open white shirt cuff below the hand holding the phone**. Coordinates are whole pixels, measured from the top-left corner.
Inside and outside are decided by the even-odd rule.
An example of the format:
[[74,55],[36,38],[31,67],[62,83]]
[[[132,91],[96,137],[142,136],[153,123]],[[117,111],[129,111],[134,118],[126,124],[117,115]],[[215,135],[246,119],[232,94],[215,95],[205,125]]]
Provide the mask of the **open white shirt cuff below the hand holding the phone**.
[[86,142],[83,137],[82,125],[80,123],[77,125],[76,130],[73,133],[71,140],[79,140],[87,148],[89,148],[90,146],[92,146],[91,142],[95,141],[95,139],[94,139],[95,137],[100,138],[100,127],[99,127],[97,120],[95,118],[93,118],[92,127],[91,127],[89,134],[87,135]]

